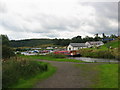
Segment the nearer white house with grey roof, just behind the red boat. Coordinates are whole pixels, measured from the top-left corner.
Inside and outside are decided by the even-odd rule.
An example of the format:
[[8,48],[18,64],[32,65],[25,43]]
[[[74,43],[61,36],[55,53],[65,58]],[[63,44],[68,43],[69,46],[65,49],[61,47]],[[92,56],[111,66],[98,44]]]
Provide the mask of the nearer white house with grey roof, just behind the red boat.
[[87,46],[85,45],[85,43],[70,43],[67,47],[67,50],[78,50],[81,48],[87,48]]

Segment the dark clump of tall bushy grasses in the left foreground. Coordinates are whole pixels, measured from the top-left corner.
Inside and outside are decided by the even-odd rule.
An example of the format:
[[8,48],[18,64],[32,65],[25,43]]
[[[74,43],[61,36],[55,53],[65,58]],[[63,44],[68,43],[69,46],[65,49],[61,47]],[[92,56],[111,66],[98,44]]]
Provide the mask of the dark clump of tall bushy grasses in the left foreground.
[[20,79],[28,79],[37,73],[47,71],[47,64],[33,60],[7,60],[3,62],[2,87],[8,88]]

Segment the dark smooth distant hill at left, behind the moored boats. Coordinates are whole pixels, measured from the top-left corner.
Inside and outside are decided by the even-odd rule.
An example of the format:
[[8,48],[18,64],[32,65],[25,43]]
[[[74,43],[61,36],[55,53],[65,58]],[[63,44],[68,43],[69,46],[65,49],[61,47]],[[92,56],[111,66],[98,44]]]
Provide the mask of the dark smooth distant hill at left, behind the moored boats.
[[52,39],[25,39],[25,40],[11,40],[12,47],[35,47],[44,44],[53,44]]

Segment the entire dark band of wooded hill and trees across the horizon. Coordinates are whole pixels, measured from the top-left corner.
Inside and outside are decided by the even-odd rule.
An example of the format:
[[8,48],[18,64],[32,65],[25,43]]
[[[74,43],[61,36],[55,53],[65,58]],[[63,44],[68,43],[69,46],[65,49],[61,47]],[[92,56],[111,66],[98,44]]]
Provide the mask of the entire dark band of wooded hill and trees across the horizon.
[[[117,36],[114,35],[114,34],[112,34],[110,36],[106,36],[103,33],[102,37],[100,37],[99,34],[95,34],[94,37],[86,36],[86,37],[82,38],[82,36],[76,36],[76,37],[73,37],[72,39],[58,39],[58,38],[55,38],[55,39],[11,40],[9,42],[9,45],[11,47],[35,47],[35,46],[45,45],[45,44],[67,46],[69,43],[85,43],[87,41],[101,41],[102,39],[116,38],[116,37]],[[106,43],[107,41],[103,41],[103,42]]]

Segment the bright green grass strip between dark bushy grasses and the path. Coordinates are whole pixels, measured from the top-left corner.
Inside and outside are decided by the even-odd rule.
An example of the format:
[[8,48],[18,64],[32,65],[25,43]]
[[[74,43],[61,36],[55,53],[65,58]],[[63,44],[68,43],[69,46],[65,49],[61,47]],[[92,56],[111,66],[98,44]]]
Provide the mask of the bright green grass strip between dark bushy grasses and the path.
[[11,88],[34,88],[37,82],[40,82],[50,76],[52,76],[56,72],[56,68],[48,64],[48,71],[39,73],[34,77],[31,77],[28,80],[21,79],[18,84],[14,85]]

